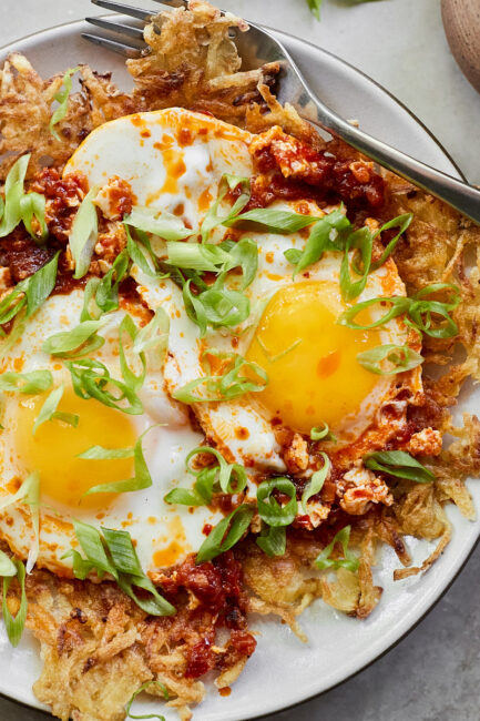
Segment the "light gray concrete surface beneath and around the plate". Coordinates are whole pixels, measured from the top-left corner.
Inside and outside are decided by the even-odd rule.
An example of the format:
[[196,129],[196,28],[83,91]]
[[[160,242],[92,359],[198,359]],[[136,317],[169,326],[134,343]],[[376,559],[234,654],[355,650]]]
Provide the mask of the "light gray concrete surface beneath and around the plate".
[[[375,78],[430,128],[469,180],[480,183],[480,97],[449,53],[439,0],[324,4],[318,24],[305,0],[222,1],[238,14],[320,44]],[[88,0],[1,0],[0,9],[0,45],[98,12]],[[395,649],[337,689],[269,721],[479,720],[479,598],[477,548],[442,600]],[[40,719],[45,717],[0,699],[0,721]]]

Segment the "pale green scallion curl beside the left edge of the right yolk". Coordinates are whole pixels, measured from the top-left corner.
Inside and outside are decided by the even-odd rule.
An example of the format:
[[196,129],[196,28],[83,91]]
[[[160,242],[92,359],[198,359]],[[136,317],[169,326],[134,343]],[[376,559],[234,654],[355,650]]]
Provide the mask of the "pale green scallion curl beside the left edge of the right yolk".
[[[182,403],[214,403],[232,400],[245,393],[259,393],[268,383],[265,370],[256,363],[246,360],[237,353],[223,353],[216,348],[207,348],[202,356],[210,374],[208,355],[221,358],[226,369],[222,375],[205,375],[195,378],[173,393],[173,397]],[[249,370],[256,379],[245,375]]]

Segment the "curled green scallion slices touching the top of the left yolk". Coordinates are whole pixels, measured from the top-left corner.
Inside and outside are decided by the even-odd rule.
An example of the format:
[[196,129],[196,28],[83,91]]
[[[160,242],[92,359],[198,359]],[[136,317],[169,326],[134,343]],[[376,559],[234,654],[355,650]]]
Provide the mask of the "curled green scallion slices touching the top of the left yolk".
[[[96,398],[103,405],[130,415],[143,413],[143,404],[135,390],[126,383],[112,378],[103,363],[80,358],[67,360],[65,366],[71,374],[73,390],[80,398]],[[114,389],[118,393],[114,393]]]

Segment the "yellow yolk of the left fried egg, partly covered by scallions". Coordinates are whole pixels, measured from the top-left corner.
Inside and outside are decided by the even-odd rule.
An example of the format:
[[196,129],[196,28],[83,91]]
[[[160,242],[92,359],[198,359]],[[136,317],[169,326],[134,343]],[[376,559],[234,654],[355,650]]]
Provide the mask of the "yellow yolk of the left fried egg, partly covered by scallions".
[[91,446],[132,447],[135,429],[129,416],[95,399],[82,400],[65,388],[58,410],[79,415],[76,428],[62,420],[47,420],[33,436],[33,424],[47,394],[22,399],[17,410],[16,450],[27,473],[38,470],[44,497],[80,509],[108,506],[113,494],[83,494],[99,484],[133,476],[133,459],[89,460],[76,458]]

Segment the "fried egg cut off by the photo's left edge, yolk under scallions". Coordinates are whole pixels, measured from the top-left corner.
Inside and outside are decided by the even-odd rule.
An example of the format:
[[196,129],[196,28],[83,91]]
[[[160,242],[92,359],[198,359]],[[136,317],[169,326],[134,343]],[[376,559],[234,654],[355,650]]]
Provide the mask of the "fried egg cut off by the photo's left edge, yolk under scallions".
[[[96,399],[84,400],[73,392],[70,372],[60,359],[43,353],[45,337],[69,331],[79,323],[83,292],[53,295],[29,319],[21,338],[10,348],[2,370],[27,373],[49,369],[53,386],[64,384],[59,412],[79,416],[73,427],[62,420],[43,423],[33,435],[33,424],[51,389],[41,395],[3,394],[0,435],[1,500],[16,492],[33,471],[40,476],[40,551],[38,565],[57,573],[71,573],[70,559],[62,556],[78,548],[72,519],[96,527],[127,530],[136,541],[144,569],[171,566],[187,552],[198,549],[205,539],[205,522],[215,525],[221,514],[206,507],[188,509],[168,506],[163,497],[177,485],[191,486],[185,470],[187,454],[203,443],[203,435],[192,430],[183,408],[174,404],[163,387],[162,373],[155,363],[147,364],[147,375],[139,396],[141,415],[129,415]],[[106,316],[100,335],[105,344],[91,354],[103,363],[112,377],[121,378],[119,363],[119,325],[125,313]],[[135,318],[140,325],[142,315]],[[161,425],[159,425],[161,424]],[[152,486],[123,494],[92,494],[95,485],[115,483],[133,476],[133,459],[90,460],[78,458],[88,448],[129,448],[145,430],[142,447],[152,477]],[[19,558],[27,558],[32,544],[32,525],[28,506],[7,506],[0,511],[0,532]]]

